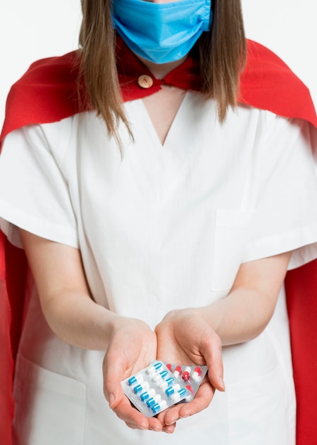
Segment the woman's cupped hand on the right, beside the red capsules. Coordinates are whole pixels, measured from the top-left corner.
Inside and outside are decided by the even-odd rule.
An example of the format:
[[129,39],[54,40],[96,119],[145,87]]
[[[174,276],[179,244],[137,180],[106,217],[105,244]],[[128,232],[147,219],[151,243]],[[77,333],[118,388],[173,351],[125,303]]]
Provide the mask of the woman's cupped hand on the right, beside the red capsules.
[[207,365],[204,379],[194,400],[177,404],[158,414],[167,432],[178,419],[202,411],[210,404],[215,389],[224,391],[221,340],[204,320],[204,309],[171,311],[156,326],[157,358],[178,365]]

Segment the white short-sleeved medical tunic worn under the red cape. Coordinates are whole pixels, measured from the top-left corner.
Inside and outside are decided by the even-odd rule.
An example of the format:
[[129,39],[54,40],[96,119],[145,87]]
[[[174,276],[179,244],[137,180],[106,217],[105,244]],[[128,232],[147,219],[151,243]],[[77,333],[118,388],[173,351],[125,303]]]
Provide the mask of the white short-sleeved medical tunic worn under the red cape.
[[[95,301],[155,327],[168,311],[230,291],[242,262],[317,257],[309,124],[240,105],[225,124],[187,92],[160,144],[142,100],[126,102],[123,156],[94,112],[31,125],[4,141],[1,228],[79,248]],[[58,277],[57,277],[58,279]],[[295,397],[282,289],[265,331],[223,348],[226,393],[172,435],[135,431],[109,409],[104,353],[60,341],[30,297],[15,380],[19,445],[294,445]]]

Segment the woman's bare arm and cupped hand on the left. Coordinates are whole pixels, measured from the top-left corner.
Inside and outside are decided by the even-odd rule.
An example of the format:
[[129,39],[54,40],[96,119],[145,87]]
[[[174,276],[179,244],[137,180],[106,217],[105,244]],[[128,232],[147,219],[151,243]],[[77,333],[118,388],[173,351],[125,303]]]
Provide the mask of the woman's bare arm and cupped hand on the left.
[[155,332],[143,321],[118,316],[91,299],[78,249],[25,230],[20,234],[52,331],[79,348],[106,350],[104,393],[110,407],[131,428],[162,431],[161,422],[133,408],[121,388],[121,380],[156,358]]

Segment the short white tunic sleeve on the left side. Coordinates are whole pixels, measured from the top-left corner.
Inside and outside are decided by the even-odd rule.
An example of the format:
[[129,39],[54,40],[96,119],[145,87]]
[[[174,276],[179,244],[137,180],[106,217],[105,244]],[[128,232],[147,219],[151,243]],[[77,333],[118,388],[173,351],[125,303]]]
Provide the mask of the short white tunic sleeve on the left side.
[[40,125],[18,129],[4,140],[0,218],[1,230],[18,247],[17,227],[72,247],[79,245],[67,181]]

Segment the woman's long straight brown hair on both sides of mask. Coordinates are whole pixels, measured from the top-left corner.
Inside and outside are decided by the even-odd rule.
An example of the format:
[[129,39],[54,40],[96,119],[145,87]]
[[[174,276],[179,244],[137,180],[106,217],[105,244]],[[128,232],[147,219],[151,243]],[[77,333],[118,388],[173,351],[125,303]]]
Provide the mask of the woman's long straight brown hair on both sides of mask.
[[[116,70],[116,33],[111,22],[113,0],[82,0],[81,73],[91,106],[116,136],[118,122],[129,128],[123,110]],[[114,0],[116,1],[116,0]],[[218,104],[221,122],[228,107],[235,107],[240,71],[245,61],[245,33],[240,0],[213,0],[211,31],[198,42],[202,91]]]

